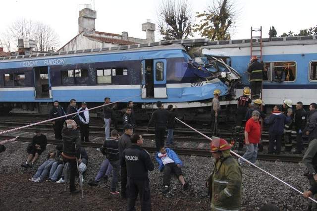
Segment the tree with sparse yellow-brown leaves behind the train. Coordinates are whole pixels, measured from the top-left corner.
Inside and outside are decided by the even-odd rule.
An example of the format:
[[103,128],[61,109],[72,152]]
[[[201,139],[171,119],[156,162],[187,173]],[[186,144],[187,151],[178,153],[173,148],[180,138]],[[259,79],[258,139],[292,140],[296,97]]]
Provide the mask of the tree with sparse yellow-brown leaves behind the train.
[[195,32],[199,32],[202,37],[211,40],[229,40],[228,29],[233,27],[236,18],[234,4],[230,0],[214,1],[212,6],[208,6],[207,11],[197,12],[196,18],[200,18],[199,24],[195,24]]

